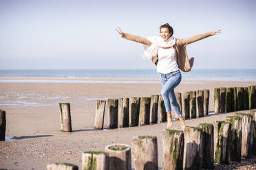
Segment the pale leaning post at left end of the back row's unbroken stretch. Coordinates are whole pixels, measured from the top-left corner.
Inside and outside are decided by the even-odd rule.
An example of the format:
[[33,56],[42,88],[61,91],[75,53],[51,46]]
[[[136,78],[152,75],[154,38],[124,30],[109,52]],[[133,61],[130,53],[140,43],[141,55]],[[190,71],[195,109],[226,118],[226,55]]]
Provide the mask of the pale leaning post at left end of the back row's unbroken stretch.
[[103,130],[104,125],[104,116],[105,116],[105,100],[97,100],[96,111],[95,111],[95,120],[94,120],[94,129]]

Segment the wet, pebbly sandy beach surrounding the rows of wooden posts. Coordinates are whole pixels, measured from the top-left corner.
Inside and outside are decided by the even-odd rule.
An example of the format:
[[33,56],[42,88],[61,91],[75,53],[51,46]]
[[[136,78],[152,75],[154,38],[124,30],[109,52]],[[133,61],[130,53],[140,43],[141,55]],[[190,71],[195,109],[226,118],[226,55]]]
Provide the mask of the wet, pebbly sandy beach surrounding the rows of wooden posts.
[[[175,92],[209,89],[209,111],[213,111],[214,88],[255,84],[256,81],[245,80],[182,80]],[[162,167],[162,131],[167,123],[94,130],[96,99],[149,97],[159,95],[160,89],[160,80],[151,79],[0,77],[0,109],[6,110],[6,137],[15,139],[0,142],[0,169],[46,169],[52,162],[70,162],[81,169],[83,151],[102,151],[111,143],[131,145],[132,137],[138,135],[158,137],[158,165]],[[71,104],[72,133],[61,132],[60,102]],[[235,113],[213,114],[185,123],[213,123],[232,114]],[[106,122],[107,119],[105,126]],[[180,130],[180,123],[174,121],[171,129]]]

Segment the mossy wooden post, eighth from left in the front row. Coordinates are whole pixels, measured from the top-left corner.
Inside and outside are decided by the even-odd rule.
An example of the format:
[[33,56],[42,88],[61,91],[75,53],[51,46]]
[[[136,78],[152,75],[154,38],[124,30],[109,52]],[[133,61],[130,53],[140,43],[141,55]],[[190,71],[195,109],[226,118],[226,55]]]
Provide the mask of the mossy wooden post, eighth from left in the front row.
[[215,163],[226,164],[228,163],[228,143],[231,131],[231,123],[225,121],[217,121],[215,123]]

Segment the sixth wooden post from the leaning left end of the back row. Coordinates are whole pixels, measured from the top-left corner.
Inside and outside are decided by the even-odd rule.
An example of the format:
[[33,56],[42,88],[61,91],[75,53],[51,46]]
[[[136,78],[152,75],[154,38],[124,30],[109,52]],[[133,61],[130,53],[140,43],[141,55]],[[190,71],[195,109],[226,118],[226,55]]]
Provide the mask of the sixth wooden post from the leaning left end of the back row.
[[159,95],[151,95],[149,123],[158,123]]

